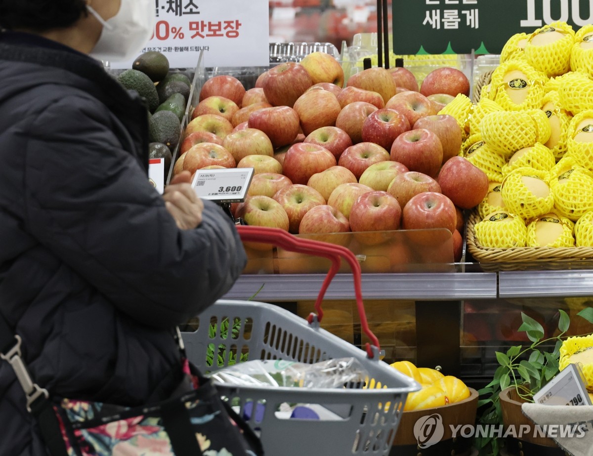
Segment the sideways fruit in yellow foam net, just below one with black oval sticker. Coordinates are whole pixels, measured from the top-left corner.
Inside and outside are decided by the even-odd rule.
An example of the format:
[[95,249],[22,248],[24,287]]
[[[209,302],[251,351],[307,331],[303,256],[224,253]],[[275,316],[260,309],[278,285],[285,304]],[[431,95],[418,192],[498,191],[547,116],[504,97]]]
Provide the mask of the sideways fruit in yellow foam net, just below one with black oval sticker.
[[480,122],[480,133],[507,160],[519,149],[533,146],[539,134],[533,117],[526,111],[488,113]]

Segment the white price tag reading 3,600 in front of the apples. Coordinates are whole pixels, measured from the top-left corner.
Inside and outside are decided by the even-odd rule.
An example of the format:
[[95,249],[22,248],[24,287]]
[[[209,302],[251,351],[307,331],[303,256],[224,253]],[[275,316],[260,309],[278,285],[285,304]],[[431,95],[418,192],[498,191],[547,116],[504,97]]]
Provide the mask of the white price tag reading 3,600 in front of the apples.
[[225,170],[197,170],[192,186],[197,196],[219,203],[241,202],[253,177],[253,168],[228,168]]

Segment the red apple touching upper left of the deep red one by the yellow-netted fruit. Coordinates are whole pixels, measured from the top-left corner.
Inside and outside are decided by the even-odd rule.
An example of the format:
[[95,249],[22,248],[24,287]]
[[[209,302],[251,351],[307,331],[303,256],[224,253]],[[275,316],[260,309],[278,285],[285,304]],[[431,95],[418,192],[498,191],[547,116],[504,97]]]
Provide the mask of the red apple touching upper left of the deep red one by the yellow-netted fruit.
[[441,140],[425,128],[403,132],[391,145],[391,160],[400,162],[410,171],[436,177],[443,160]]

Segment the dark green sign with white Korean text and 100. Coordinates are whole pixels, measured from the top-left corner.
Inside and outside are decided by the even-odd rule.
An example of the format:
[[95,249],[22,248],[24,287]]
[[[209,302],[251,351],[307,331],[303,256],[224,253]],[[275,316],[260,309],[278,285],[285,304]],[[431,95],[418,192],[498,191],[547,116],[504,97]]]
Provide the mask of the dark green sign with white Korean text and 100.
[[515,33],[593,23],[593,0],[392,0],[393,52],[499,54]]

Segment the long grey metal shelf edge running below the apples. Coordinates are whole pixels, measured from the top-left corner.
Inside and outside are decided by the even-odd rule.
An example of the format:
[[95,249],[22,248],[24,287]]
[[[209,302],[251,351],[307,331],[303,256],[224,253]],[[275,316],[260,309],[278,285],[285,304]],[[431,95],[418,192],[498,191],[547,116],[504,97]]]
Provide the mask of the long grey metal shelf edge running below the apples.
[[[248,299],[257,293],[259,301],[315,299],[324,278],[323,274],[242,275],[225,298]],[[326,299],[352,299],[352,296],[352,275],[336,275],[327,289]],[[419,301],[496,298],[496,273],[363,274],[362,296],[364,299]]]

